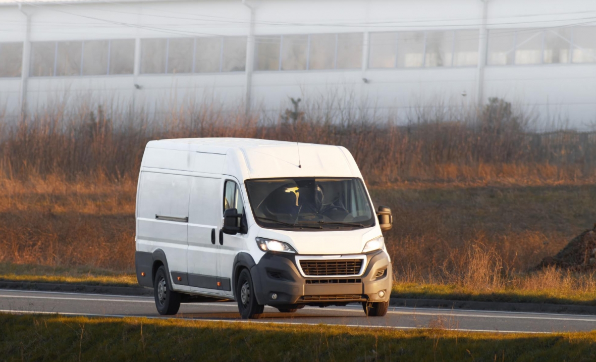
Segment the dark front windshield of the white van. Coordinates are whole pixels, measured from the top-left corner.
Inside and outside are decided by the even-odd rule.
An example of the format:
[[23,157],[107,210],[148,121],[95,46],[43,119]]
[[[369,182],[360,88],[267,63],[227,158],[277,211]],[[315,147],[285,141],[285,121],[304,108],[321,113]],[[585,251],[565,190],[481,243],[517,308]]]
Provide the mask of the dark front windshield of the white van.
[[373,208],[359,178],[276,178],[247,180],[254,218],[278,229],[353,229],[375,224]]

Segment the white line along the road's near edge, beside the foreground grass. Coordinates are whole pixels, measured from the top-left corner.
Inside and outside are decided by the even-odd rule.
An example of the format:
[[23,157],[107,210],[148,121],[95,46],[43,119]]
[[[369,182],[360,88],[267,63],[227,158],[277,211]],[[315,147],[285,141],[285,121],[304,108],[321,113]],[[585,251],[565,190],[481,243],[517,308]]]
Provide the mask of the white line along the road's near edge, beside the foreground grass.
[[[190,320],[190,321],[209,321],[209,322],[221,322],[221,323],[261,323],[261,324],[285,324],[285,325],[302,325],[302,326],[320,326],[321,323],[298,323],[298,322],[283,322],[283,321],[254,321],[254,320],[221,320],[221,319],[195,319],[191,317],[157,317],[157,316],[131,316],[131,315],[120,315],[120,314],[83,314],[83,313],[55,313],[55,312],[31,312],[31,311],[17,311],[17,310],[0,310],[0,313],[11,313],[11,314],[50,314],[50,315],[74,315],[81,317],[112,317],[112,318],[148,318],[148,319],[179,319],[179,320]],[[325,324],[325,323],[323,323]],[[338,324],[325,324],[326,326],[337,326]],[[401,326],[373,326],[373,325],[362,325],[362,324],[339,324],[344,327],[358,327],[358,328],[370,328],[370,329],[404,329],[404,330],[426,330],[432,329],[427,327],[401,327]],[[565,332],[529,332],[524,330],[489,330],[489,329],[459,329],[459,328],[445,328],[444,330],[454,330],[459,332],[485,332],[485,333],[524,333],[524,334],[544,334],[552,335]]]

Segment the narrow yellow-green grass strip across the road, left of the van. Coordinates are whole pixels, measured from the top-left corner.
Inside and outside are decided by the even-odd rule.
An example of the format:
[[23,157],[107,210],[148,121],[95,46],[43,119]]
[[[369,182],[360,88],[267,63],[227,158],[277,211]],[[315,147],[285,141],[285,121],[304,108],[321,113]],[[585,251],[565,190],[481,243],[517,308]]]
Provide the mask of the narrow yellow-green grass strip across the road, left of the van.
[[138,286],[134,274],[116,273],[92,267],[50,267],[12,263],[0,263],[0,280],[93,286]]

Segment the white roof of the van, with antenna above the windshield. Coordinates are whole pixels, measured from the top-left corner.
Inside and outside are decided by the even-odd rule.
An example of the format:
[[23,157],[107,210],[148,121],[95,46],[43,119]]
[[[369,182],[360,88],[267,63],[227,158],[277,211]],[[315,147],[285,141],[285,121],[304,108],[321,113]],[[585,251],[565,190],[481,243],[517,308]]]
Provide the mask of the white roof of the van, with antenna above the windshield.
[[352,154],[341,146],[256,138],[179,138],[150,141],[147,148],[225,154],[222,173],[244,180],[275,177],[362,177]]

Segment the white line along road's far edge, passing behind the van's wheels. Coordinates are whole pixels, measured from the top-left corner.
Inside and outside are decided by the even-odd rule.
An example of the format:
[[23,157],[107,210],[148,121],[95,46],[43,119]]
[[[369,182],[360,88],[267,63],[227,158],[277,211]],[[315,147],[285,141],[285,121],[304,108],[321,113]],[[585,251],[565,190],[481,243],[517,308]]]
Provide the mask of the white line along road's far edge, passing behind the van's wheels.
[[[127,303],[149,303],[153,304],[154,301],[139,301],[134,299],[104,299],[104,298],[67,298],[67,297],[55,297],[55,296],[20,296],[20,295],[0,295],[0,298],[17,298],[17,299],[51,299],[51,300],[64,300],[64,301],[92,301],[92,302],[127,302]],[[126,298],[126,297],[125,297]],[[218,303],[190,303],[189,305],[207,305],[212,307],[236,307],[233,304],[218,304]],[[355,306],[356,307],[356,306]],[[275,307],[271,307],[275,308]],[[307,307],[308,308],[308,307]],[[312,310],[318,310],[318,307],[308,308]],[[344,308],[325,308],[326,310],[333,310],[333,311],[354,311],[353,309],[344,309]],[[558,321],[587,321],[587,322],[596,322],[596,317],[593,318],[564,318],[564,317],[538,317],[535,315],[523,316],[523,315],[491,315],[491,314],[470,314],[470,311],[456,311],[457,313],[453,313],[454,311],[430,311],[430,312],[420,312],[417,310],[412,311],[387,311],[387,313],[391,314],[402,314],[402,315],[438,315],[438,316],[446,316],[446,317],[471,317],[471,318],[508,318],[508,319],[535,319],[535,320],[558,320]],[[473,311],[471,311],[473,313]],[[479,313],[482,313],[479,311]]]

